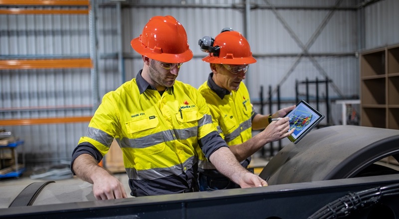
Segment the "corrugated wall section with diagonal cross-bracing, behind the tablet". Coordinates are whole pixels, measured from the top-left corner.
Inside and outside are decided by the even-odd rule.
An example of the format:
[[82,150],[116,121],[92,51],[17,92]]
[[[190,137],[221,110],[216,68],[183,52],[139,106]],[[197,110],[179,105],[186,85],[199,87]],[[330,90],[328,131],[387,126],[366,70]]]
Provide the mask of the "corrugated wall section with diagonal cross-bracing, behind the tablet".
[[[265,4],[266,2],[266,4]],[[331,7],[337,4],[338,9]],[[296,81],[330,79],[330,99],[347,98],[359,93],[356,51],[356,9],[350,1],[259,1],[259,9],[251,11],[250,42],[258,62],[250,67],[246,83],[252,97],[259,97],[260,87],[267,95],[269,86],[280,88],[281,100],[296,102]],[[271,6],[280,5],[277,8]],[[349,5],[350,6],[350,5]],[[304,49],[306,48],[306,50]],[[326,85],[319,85],[319,97],[327,95]],[[305,99],[306,86],[299,85],[299,99]],[[309,86],[310,101],[316,96],[316,85]],[[273,99],[277,94],[273,92]],[[286,106],[286,105],[282,105]],[[327,105],[320,103],[320,111],[327,114]],[[273,112],[277,110],[273,105]],[[269,112],[267,109],[264,109]],[[330,102],[329,123],[340,124],[339,106]],[[326,115],[327,116],[327,115]],[[322,123],[327,124],[327,119]]]

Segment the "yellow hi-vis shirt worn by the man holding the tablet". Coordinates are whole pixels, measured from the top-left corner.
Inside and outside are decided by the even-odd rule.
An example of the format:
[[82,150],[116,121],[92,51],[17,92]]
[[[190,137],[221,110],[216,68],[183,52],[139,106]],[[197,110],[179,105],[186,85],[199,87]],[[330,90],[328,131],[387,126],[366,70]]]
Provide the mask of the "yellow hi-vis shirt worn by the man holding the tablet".
[[[243,82],[237,91],[231,91],[230,94],[216,93],[213,89],[221,89],[213,80],[211,75],[208,81],[205,81],[199,87],[201,95],[208,104],[212,122],[217,127],[219,135],[224,139],[228,146],[241,144],[252,138],[252,120],[254,113],[249,99],[249,92]],[[222,96],[222,97],[221,97]],[[199,153],[199,167],[203,170],[215,169],[209,163],[202,153]],[[247,167],[250,157],[241,162],[243,167]],[[221,175],[221,174],[220,174]]]

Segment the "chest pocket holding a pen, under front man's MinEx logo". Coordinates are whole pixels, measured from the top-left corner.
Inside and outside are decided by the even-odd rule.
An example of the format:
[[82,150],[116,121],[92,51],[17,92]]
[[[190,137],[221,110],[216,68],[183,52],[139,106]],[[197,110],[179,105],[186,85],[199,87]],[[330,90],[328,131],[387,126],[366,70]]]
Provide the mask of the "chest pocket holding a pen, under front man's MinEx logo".
[[180,124],[180,139],[185,140],[194,136],[198,136],[198,120],[201,115],[198,110],[182,110],[176,113],[176,119]]

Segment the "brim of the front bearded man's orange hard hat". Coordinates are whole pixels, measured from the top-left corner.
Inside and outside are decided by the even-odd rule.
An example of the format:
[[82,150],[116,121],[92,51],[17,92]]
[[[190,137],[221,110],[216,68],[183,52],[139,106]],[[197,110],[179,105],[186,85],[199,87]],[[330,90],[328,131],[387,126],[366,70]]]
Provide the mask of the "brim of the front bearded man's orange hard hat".
[[170,54],[170,53],[156,53],[153,49],[144,46],[140,40],[140,37],[132,39],[130,41],[130,45],[136,52],[141,55],[145,55],[151,59],[168,62],[168,63],[183,63],[190,61],[193,58],[193,51],[191,49],[187,49],[185,52],[180,54]]

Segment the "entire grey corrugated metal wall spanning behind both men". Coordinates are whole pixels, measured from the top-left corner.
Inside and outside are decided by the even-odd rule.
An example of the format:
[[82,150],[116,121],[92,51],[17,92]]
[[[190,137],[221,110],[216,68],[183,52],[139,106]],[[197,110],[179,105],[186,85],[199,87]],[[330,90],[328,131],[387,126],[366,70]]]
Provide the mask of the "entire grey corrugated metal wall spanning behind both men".
[[[194,58],[182,66],[178,79],[194,87],[200,86],[209,73],[208,64],[201,61],[206,54],[200,51],[198,40],[204,35],[215,36],[224,27],[242,32],[257,59],[245,83],[258,111],[261,86],[266,98],[269,86],[275,90],[280,85],[284,107],[295,103],[295,81],[306,78],[325,80],[328,76],[332,80],[328,93],[333,99],[359,95],[355,53],[363,49],[359,47],[360,38],[364,37],[364,48],[399,43],[397,0],[382,0],[363,11],[359,0],[252,0],[247,4],[250,8],[245,8],[243,0],[96,2],[100,97],[135,77],[142,68],[141,56],[130,47],[130,40],[138,37],[155,15],[173,15],[185,26]],[[363,21],[359,20],[360,12]],[[364,36],[359,35],[360,24],[364,25]],[[87,14],[0,14],[0,59],[89,57],[89,29]],[[301,46],[308,44],[304,51]],[[92,114],[90,69],[0,70],[0,86],[1,120]],[[314,85],[309,89],[314,97]],[[325,85],[319,89],[319,96],[325,96]],[[303,94],[305,87],[301,86],[299,92]],[[267,108],[263,108],[265,113]],[[330,108],[330,123],[340,124],[340,106],[332,103]],[[324,103],[320,111],[326,113]],[[69,160],[86,127],[87,123],[71,123],[0,128],[24,139],[27,163],[38,165]]]

